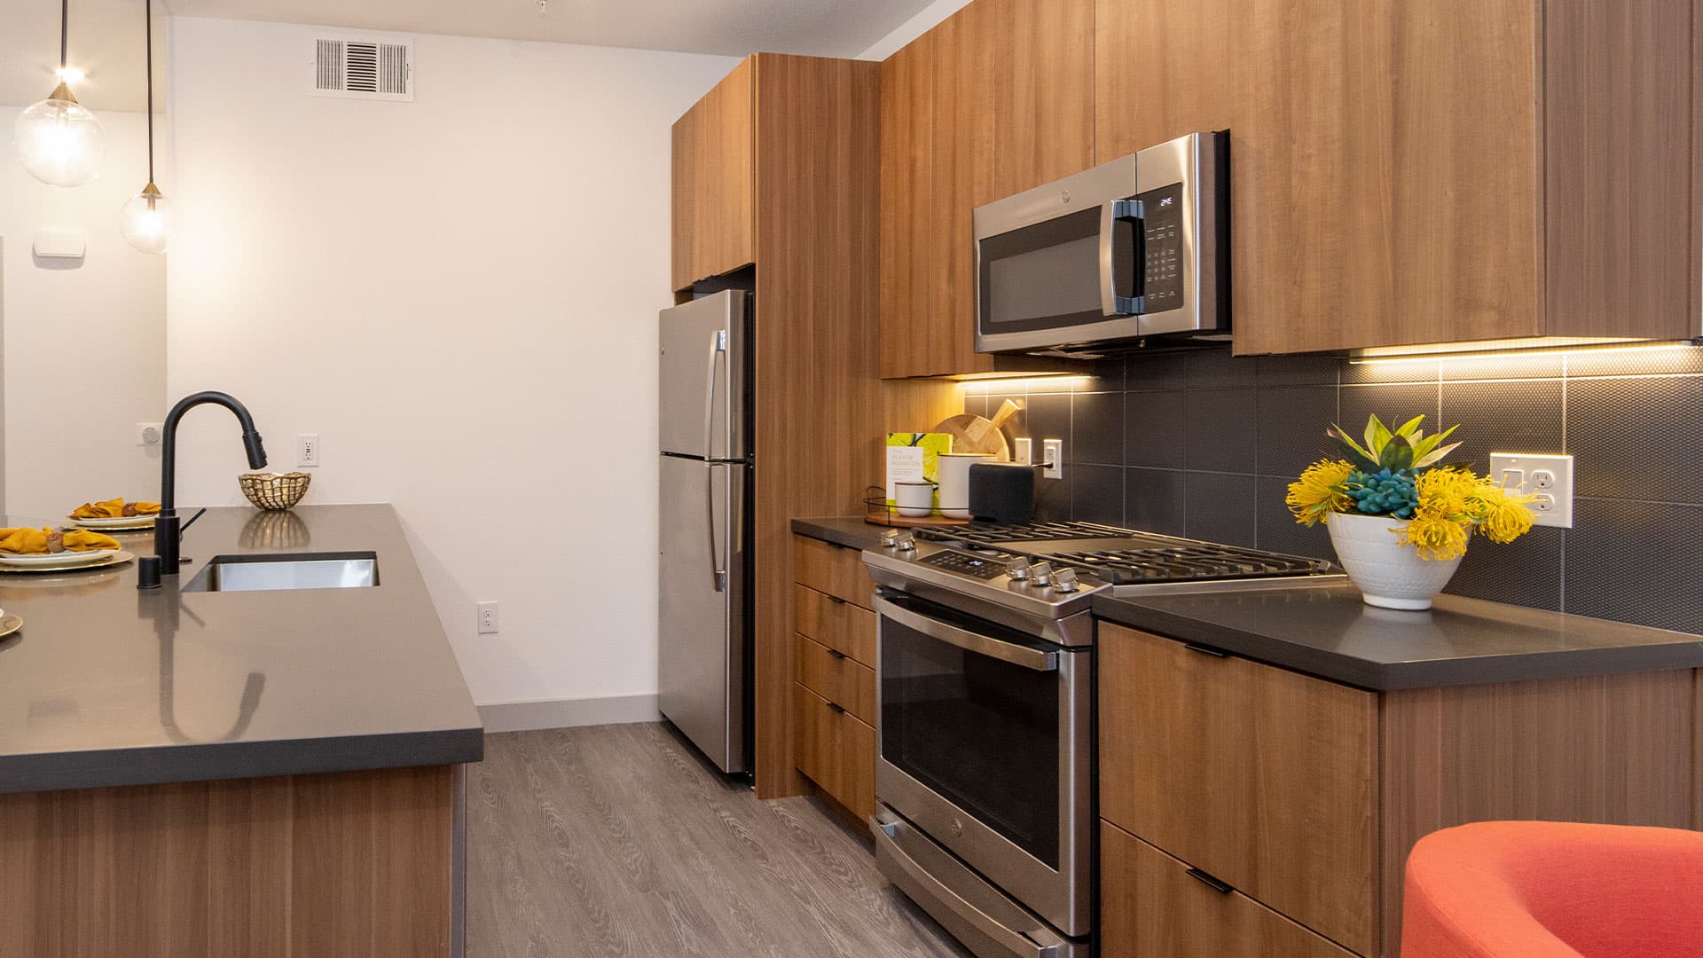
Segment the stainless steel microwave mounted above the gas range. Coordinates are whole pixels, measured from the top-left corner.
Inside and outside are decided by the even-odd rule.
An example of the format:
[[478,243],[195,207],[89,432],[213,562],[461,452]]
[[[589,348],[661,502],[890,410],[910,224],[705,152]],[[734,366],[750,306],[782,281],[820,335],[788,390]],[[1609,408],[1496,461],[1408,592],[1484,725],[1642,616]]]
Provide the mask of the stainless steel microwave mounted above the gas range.
[[978,206],[976,351],[1093,356],[1230,332],[1230,135]]

